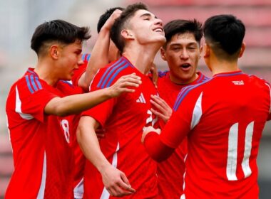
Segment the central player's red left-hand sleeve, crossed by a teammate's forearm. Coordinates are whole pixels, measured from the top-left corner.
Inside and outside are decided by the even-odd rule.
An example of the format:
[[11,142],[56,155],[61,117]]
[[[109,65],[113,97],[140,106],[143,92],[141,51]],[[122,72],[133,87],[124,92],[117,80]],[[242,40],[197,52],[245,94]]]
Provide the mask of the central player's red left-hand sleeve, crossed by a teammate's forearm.
[[[100,85],[104,72],[105,72],[104,69],[98,70],[97,74],[93,78],[93,81],[91,82],[90,92],[101,90]],[[97,106],[88,109],[85,112],[82,112],[81,116],[93,117],[103,127],[108,117],[110,117],[116,102],[117,102],[116,98],[108,99],[106,100],[106,102],[98,104]]]

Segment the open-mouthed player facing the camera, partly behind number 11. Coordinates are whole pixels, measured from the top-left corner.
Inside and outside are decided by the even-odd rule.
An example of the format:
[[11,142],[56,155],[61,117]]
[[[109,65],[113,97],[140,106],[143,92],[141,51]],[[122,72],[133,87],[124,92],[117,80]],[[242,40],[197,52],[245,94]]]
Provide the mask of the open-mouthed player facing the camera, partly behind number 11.
[[[202,24],[196,20],[176,19],[164,26],[166,43],[160,49],[161,58],[169,70],[159,72],[158,92],[150,102],[151,111],[159,117],[160,129],[171,116],[175,99],[183,87],[208,80],[197,72],[200,59]],[[158,163],[158,190],[161,198],[180,198],[183,193],[184,158],[187,154],[187,138],[178,146],[168,160]]]

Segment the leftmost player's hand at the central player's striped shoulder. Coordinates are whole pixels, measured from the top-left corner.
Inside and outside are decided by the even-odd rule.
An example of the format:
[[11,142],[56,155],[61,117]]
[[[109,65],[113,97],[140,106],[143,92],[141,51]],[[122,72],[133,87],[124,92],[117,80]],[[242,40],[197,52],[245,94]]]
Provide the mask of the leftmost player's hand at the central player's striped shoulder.
[[128,87],[139,87],[142,83],[141,78],[133,73],[131,75],[124,75],[118,79],[109,89],[109,95],[111,97],[118,97],[123,92],[135,92],[133,88]]

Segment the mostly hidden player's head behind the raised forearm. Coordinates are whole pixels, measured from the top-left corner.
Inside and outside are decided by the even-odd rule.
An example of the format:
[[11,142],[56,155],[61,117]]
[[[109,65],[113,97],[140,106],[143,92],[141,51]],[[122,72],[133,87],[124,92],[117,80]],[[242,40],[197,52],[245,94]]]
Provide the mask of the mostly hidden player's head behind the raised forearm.
[[[102,14],[99,18],[98,25],[97,25],[97,31],[100,33],[101,28],[106,23],[108,18],[113,14],[116,9],[123,11],[123,8],[121,7],[114,7],[111,9],[108,9],[104,14]],[[108,50],[108,61],[112,62],[113,60],[117,60],[121,56],[120,51],[116,47],[115,43],[113,43],[112,40],[110,40],[109,43],[109,50]]]

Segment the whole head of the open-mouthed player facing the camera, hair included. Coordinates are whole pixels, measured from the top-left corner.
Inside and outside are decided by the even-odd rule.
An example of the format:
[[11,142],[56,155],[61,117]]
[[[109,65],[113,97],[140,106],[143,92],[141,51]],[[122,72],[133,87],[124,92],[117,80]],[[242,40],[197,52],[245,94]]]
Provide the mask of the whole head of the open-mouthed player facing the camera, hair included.
[[165,24],[164,31],[166,43],[160,53],[168,63],[170,80],[178,84],[193,82],[200,59],[202,24],[195,19],[176,19]]

